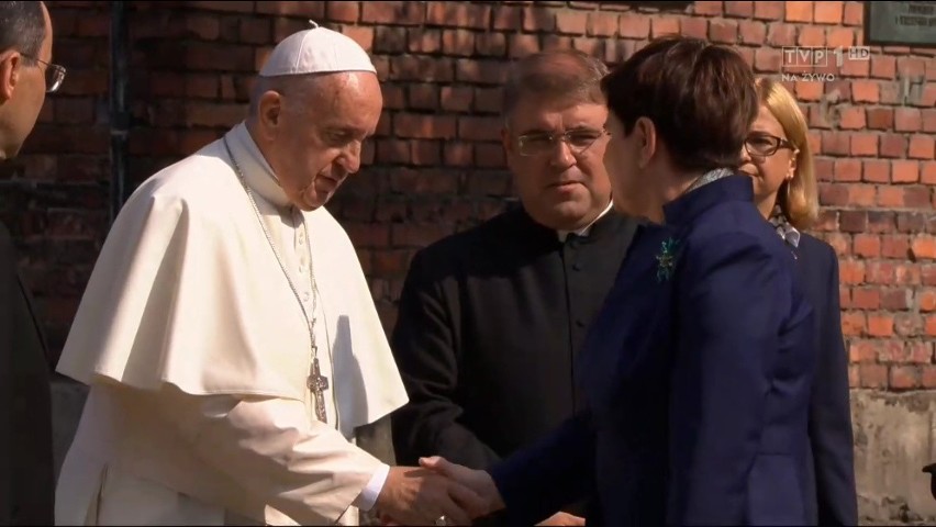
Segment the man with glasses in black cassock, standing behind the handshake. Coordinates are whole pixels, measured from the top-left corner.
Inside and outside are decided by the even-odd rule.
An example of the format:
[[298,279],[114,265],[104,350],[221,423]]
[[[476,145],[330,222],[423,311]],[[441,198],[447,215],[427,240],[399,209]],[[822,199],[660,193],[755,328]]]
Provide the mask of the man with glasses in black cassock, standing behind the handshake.
[[[611,208],[605,74],[572,51],[512,67],[502,135],[522,206],[411,262],[391,339],[411,401],[392,417],[400,463],[486,469],[581,408],[573,359],[636,228]],[[549,519],[580,522],[567,513],[583,509]]]

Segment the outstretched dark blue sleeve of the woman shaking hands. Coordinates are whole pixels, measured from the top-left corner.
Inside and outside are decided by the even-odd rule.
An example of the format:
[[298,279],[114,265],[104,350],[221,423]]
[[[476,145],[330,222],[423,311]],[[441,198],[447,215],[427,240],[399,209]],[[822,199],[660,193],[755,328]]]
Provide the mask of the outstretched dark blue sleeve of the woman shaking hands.
[[582,412],[489,470],[506,505],[506,525],[533,525],[592,492],[594,433]]

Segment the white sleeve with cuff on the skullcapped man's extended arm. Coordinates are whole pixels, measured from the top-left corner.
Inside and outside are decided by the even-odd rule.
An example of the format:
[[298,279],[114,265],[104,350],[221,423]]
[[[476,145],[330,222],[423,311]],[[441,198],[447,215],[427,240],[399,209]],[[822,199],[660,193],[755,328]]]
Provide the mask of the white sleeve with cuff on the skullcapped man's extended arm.
[[299,401],[196,396],[169,386],[158,397],[200,457],[302,525],[335,523],[356,503],[372,506],[382,489],[386,466],[310,419]]

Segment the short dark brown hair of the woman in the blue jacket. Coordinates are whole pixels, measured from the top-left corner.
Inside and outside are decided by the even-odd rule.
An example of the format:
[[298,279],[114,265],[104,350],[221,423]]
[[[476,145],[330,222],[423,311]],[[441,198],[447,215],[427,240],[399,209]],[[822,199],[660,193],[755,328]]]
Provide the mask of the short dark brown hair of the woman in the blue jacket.
[[626,134],[653,121],[683,170],[737,168],[758,97],[754,71],[735,49],[700,38],[650,41],[602,80]]

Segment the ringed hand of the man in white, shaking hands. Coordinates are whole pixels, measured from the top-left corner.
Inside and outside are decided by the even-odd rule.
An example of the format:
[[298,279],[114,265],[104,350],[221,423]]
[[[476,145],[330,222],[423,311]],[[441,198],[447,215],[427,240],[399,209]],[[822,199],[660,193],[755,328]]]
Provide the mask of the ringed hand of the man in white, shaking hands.
[[471,525],[483,515],[484,502],[461,483],[427,469],[391,467],[377,496],[380,516],[401,525]]

